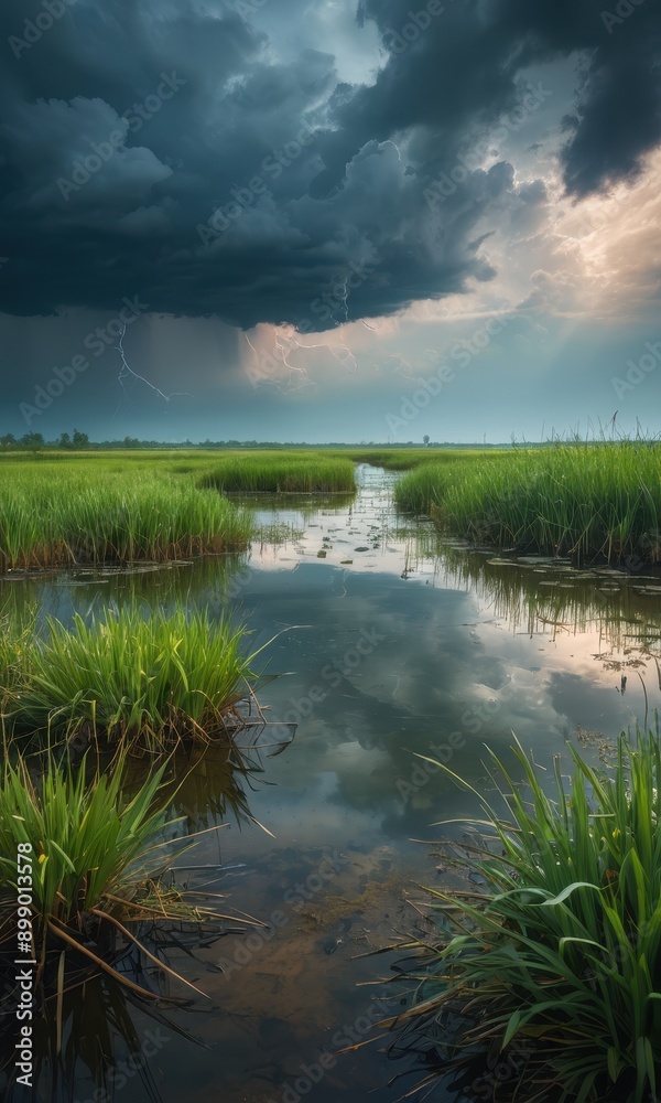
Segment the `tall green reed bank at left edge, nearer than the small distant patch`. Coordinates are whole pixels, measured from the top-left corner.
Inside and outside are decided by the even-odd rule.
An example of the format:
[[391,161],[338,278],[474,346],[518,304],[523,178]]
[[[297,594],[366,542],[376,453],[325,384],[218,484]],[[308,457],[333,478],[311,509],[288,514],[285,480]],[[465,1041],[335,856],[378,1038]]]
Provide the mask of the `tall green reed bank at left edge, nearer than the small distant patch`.
[[1,570],[238,552],[251,535],[245,511],[169,473],[0,465]]

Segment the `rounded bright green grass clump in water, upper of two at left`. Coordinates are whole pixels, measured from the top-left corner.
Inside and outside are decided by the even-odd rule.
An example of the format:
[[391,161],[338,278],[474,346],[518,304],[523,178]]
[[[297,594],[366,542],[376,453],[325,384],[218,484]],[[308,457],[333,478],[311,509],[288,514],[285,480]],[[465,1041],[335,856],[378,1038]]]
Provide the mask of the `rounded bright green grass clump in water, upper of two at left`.
[[50,732],[83,743],[162,750],[206,742],[240,722],[236,713],[257,675],[245,630],[208,611],[166,614],[106,610],[71,629],[48,619],[14,671],[7,711],[15,732]]

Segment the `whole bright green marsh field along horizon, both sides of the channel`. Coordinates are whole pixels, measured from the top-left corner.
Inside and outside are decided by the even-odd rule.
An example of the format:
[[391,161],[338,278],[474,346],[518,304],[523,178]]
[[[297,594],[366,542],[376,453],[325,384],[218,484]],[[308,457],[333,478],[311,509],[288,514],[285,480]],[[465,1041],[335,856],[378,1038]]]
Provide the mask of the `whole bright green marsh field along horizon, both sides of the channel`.
[[0,569],[238,552],[224,494],[353,493],[355,464],[405,472],[398,505],[454,535],[576,561],[661,559],[661,446],[48,452],[0,456]]

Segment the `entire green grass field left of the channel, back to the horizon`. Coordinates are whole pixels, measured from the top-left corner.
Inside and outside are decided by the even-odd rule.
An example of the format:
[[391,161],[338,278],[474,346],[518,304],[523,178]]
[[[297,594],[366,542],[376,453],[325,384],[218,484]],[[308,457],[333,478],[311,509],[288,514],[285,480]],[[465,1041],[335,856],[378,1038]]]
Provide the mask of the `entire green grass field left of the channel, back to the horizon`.
[[253,520],[219,492],[354,490],[350,459],[312,451],[6,453],[0,570],[241,552]]

